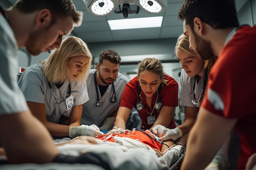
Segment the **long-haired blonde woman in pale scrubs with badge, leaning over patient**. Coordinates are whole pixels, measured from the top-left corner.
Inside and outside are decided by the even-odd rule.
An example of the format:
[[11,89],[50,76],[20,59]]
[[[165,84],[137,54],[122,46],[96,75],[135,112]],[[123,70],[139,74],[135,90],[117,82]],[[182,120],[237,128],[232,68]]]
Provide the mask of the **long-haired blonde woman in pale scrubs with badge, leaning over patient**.
[[52,136],[98,136],[96,125],[81,125],[83,103],[89,100],[85,78],[91,68],[92,54],[80,38],[65,38],[49,57],[29,66],[18,85],[29,109]]

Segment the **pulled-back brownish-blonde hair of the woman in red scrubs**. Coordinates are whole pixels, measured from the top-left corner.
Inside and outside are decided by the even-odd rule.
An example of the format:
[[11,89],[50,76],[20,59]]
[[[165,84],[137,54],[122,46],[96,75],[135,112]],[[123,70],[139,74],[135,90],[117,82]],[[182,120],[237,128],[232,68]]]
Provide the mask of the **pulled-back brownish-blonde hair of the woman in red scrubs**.
[[167,80],[164,79],[165,72],[163,70],[162,63],[158,59],[146,58],[142,60],[138,65],[138,76],[141,72],[144,72],[145,70],[154,72],[155,74],[159,75],[162,79],[161,86],[166,86]]

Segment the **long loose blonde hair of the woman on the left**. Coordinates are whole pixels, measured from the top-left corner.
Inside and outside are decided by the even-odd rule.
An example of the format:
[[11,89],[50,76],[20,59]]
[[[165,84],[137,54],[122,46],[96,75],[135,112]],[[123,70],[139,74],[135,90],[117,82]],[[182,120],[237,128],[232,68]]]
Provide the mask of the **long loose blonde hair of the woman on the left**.
[[43,63],[43,74],[49,83],[64,83],[69,77],[67,62],[76,56],[83,55],[88,58],[88,63],[83,66],[83,72],[75,80],[85,82],[92,65],[92,54],[87,44],[80,38],[70,36],[61,42],[59,49],[55,48]]

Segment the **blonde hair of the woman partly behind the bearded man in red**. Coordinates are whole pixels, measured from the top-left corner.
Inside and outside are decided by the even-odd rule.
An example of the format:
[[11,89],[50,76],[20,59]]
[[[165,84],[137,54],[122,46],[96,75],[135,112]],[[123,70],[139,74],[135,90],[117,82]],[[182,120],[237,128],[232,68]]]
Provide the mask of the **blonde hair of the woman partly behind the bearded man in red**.
[[[175,53],[177,54],[177,49],[183,50],[187,53],[189,53],[192,56],[199,57],[199,55],[195,52],[195,50],[192,50],[189,48],[189,37],[182,34],[178,37],[177,43],[175,45]],[[207,70],[207,73],[211,70],[211,66],[216,61],[217,56],[213,56],[211,59],[203,60],[204,61],[204,70]]]

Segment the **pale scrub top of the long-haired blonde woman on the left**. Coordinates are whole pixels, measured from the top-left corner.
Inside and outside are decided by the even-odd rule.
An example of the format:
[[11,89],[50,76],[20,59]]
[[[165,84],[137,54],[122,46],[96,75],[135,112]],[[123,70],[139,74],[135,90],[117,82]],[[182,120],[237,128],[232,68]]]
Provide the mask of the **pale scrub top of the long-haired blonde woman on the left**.
[[[25,98],[29,102],[44,103],[46,108],[47,120],[49,122],[58,123],[61,115],[70,116],[72,108],[66,110],[65,102],[62,105],[57,105],[48,81],[45,78],[42,70],[42,63],[31,65],[25,69],[20,76],[18,85],[23,92]],[[61,93],[56,85],[51,84],[52,91],[58,101],[62,101]],[[82,105],[89,100],[86,84],[77,81],[71,81],[71,95],[74,98],[74,105]],[[61,86],[63,97],[68,96],[69,80]]]

